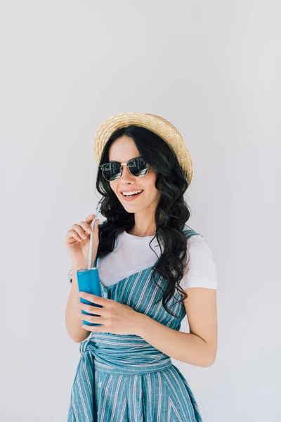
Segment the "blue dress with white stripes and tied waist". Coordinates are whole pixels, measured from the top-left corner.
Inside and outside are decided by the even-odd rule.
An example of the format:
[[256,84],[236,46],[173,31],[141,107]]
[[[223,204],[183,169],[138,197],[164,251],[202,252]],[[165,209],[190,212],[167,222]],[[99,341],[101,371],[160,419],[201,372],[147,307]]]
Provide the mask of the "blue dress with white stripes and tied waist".
[[[198,235],[192,230],[184,233],[187,238]],[[175,302],[182,297],[176,291],[167,302],[176,316],[166,312],[163,292],[151,280],[152,271],[152,267],[143,269],[108,287],[100,283],[103,297],[179,331],[186,312],[183,302]],[[156,275],[165,290],[167,281],[157,271]],[[92,332],[79,351],[67,422],[202,422],[181,371],[138,335]]]

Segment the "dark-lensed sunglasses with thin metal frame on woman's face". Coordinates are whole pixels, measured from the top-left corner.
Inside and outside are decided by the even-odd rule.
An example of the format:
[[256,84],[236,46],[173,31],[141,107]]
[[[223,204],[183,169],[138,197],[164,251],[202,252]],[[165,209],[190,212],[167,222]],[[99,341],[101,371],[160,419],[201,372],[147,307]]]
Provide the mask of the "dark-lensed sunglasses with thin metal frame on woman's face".
[[142,157],[132,158],[128,162],[110,161],[101,164],[98,168],[107,181],[118,180],[122,174],[123,165],[128,167],[129,172],[136,177],[143,177],[148,174],[148,162]]

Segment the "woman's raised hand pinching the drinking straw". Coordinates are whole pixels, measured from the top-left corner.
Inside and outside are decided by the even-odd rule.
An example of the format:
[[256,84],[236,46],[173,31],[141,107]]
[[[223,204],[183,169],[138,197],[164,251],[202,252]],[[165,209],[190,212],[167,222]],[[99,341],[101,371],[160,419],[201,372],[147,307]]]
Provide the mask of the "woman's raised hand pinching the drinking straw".
[[[67,230],[65,237],[65,244],[67,246],[67,252],[72,260],[73,267],[88,268],[89,260],[89,248],[90,248],[90,236],[91,236],[91,223],[95,218],[94,214],[86,217],[86,220],[79,224],[73,224],[72,229]],[[96,220],[93,226],[93,248],[92,248],[92,259],[91,267],[93,262],[96,260],[98,251],[98,222]]]

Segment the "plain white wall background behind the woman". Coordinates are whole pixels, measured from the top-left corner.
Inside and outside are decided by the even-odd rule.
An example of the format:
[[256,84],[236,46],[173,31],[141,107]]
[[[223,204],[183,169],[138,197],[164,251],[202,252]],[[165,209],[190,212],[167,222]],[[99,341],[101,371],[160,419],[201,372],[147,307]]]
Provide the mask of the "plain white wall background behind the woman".
[[216,261],[216,362],[173,363],[204,422],[277,420],[280,2],[2,0],[0,16],[1,421],[67,420],[65,235],[96,210],[96,129],[125,111],[181,132],[189,225]]

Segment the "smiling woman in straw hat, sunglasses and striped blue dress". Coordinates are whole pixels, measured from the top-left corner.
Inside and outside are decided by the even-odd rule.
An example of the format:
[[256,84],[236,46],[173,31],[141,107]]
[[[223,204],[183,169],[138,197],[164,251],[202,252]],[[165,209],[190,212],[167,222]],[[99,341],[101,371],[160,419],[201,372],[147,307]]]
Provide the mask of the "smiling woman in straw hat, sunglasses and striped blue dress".
[[[89,215],[66,236],[73,269],[67,332],[83,342],[67,420],[200,422],[188,381],[171,363],[210,366],[217,348],[216,266],[203,236],[186,224],[188,148],[162,117],[119,113],[100,125],[94,153],[106,219],[93,228],[92,263],[103,295],[83,296],[100,307],[79,301]],[[96,316],[81,318],[82,309]],[[190,333],[179,331],[185,314]]]

